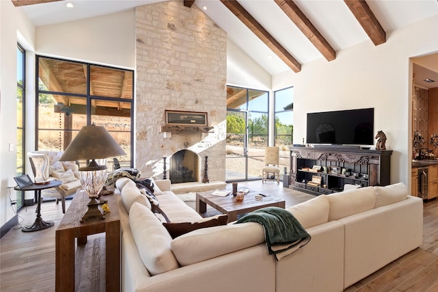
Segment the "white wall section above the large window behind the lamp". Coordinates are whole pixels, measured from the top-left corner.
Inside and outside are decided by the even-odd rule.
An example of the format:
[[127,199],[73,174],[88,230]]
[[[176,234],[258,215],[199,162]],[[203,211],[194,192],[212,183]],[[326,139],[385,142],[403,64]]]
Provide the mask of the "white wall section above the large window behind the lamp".
[[132,69],[135,49],[134,10],[36,29],[36,51],[42,55]]

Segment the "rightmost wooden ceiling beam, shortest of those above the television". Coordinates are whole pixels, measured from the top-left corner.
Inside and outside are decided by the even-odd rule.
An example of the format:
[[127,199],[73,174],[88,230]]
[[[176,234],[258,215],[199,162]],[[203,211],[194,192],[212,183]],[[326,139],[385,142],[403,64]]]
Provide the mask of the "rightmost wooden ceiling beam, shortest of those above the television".
[[386,32],[364,0],[344,0],[374,45],[386,42]]

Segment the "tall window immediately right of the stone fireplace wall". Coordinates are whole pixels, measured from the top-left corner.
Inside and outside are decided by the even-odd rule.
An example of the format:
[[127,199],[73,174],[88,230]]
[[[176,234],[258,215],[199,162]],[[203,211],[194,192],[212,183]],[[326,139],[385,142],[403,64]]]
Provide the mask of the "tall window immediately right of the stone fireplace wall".
[[227,182],[261,178],[268,146],[268,97],[260,90],[227,87]]

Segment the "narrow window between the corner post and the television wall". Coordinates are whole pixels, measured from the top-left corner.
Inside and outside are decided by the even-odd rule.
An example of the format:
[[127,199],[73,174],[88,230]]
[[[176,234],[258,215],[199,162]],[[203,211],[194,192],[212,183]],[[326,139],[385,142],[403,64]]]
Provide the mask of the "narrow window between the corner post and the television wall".
[[294,139],[294,88],[274,92],[274,140],[280,147],[280,167],[289,172],[289,146]]

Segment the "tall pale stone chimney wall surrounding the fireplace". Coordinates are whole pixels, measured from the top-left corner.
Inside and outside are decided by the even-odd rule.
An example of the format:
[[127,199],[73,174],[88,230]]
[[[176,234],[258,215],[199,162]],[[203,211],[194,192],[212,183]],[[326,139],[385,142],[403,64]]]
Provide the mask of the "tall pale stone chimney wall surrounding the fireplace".
[[[209,181],[225,181],[226,82],[227,34],[196,5],[166,1],[136,8],[135,167],[143,177],[162,178],[163,157],[169,163],[187,148],[200,157],[199,181],[205,156]],[[160,132],[166,109],[207,112],[213,133],[166,137]]]

